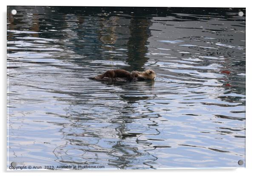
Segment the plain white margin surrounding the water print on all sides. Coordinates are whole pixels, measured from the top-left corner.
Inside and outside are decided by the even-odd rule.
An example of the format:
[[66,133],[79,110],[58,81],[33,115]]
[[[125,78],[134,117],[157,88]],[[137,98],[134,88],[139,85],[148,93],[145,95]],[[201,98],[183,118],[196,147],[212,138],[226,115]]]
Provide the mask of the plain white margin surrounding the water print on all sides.
[[[162,7],[243,7],[246,8],[246,168],[239,169],[160,169],[160,170],[53,170],[53,171],[6,171],[6,5],[65,5],[65,6],[162,6]],[[256,79],[254,71],[256,68],[256,38],[255,38],[255,5],[253,1],[241,1],[241,0],[169,0],[169,1],[150,1],[150,0],[93,0],[93,1],[79,1],[79,0],[43,0],[43,1],[32,1],[32,0],[8,0],[1,1],[1,113],[2,119],[2,145],[1,145],[1,172],[3,175],[8,172],[9,174],[17,173],[19,176],[34,175],[39,173],[47,173],[47,175],[55,175],[61,173],[62,175],[70,175],[75,172],[78,175],[120,175],[130,176],[146,174],[147,176],[155,176],[156,174],[161,175],[189,175],[189,176],[216,176],[216,174],[232,174],[232,176],[242,175],[253,175],[255,174],[256,156],[255,156],[255,115],[253,111],[253,105],[255,104],[255,93],[256,89],[254,80]]]

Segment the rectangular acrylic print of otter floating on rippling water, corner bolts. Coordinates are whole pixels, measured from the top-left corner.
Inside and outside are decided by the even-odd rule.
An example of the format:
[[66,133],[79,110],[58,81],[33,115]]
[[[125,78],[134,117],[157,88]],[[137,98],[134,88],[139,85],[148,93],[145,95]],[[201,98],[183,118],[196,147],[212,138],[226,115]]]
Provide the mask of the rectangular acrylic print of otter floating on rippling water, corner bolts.
[[7,169],[245,167],[245,13],[8,6]]

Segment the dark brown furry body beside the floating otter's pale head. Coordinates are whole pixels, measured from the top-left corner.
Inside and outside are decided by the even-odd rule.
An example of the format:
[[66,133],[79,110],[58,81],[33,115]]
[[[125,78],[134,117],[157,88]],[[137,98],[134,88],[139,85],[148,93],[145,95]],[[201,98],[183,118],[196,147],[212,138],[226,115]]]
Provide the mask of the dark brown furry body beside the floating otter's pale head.
[[133,75],[130,72],[125,71],[123,69],[108,70],[104,74],[100,75],[100,79],[104,77],[109,77],[109,78],[124,77],[129,81],[134,79]]

